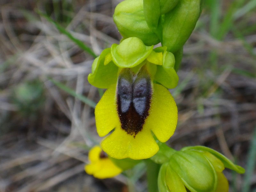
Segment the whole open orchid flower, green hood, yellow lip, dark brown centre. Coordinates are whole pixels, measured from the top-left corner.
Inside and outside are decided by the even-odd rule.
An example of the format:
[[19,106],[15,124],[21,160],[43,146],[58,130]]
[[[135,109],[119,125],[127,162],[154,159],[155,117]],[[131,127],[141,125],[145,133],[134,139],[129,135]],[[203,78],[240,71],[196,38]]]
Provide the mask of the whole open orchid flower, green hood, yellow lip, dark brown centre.
[[172,136],[177,106],[164,86],[177,85],[174,63],[166,48],[153,50],[136,37],[112,45],[95,59],[88,80],[108,88],[95,108],[95,119],[101,137],[110,133],[101,142],[109,156],[149,158],[159,149],[154,135],[161,142]]

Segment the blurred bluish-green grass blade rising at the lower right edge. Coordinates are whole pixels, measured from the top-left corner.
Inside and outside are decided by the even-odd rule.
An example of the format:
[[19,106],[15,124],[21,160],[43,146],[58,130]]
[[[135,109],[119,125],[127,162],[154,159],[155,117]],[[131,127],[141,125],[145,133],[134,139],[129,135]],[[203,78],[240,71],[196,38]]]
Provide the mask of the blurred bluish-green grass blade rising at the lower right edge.
[[244,175],[244,185],[242,192],[249,192],[251,178],[253,176],[254,169],[256,167],[256,127],[251,140],[250,149],[247,158],[247,167]]

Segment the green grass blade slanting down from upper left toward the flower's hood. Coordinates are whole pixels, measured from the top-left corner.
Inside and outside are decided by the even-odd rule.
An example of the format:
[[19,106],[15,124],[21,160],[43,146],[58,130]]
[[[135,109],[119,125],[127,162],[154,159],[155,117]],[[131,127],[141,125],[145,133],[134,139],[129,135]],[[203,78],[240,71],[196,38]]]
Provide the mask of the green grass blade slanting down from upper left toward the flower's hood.
[[69,33],[65,28],[61,27],[60,24],[52,20],[48,15],[44,14],[43,12],[38,11],[38,14],[42,15],[45,19],[47,19],[50,23],[54,24],[55,27],[60,31],[60,33],[66,35],[70,40],[74,41],[81,49],[88,52],[90,55],[92,55],[94,58],[97,57],[97,55],[89,48],[87,47],[82,41],[75,38],[71,33]]

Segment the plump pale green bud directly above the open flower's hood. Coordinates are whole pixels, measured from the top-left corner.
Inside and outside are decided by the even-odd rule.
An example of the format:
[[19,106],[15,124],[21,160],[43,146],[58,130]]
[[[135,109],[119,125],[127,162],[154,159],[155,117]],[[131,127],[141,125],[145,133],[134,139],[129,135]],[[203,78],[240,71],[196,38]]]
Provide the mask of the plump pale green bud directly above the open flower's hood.
[[148,46],[160,42],[145,20],[143,0],[122,1],[116,6],[113,19],[124,39],[138,37]]

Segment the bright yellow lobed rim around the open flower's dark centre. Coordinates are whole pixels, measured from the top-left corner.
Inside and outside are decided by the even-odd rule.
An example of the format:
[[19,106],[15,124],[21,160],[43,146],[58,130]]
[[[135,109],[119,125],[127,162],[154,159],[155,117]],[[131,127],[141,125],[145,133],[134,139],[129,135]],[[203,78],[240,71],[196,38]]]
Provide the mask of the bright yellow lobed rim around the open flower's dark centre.
[[[178,120],[178,110],[171,93],[162,85],[153,84],[153,94],[149,116],[142,131],[134,138],[121,129],[116,109],[116,84],[111,85],[95,108],[97,132],[101,137],[102,149],[116,159],[145,159],[156,154],[158,145],[152,135],[166,142],[174,133]],[[152,131],[152,132],[151,132]]]

